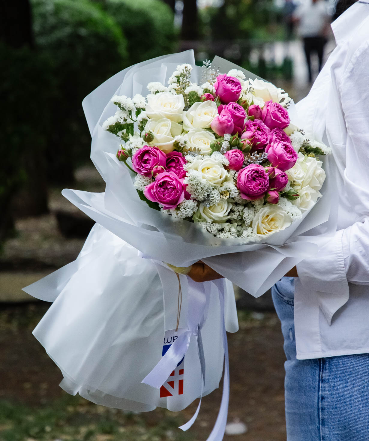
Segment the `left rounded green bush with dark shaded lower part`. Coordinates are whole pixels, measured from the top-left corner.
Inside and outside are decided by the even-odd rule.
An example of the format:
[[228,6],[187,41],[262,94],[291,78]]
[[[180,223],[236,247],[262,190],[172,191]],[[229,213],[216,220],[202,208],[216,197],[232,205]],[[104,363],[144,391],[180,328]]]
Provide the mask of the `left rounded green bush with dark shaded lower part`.
[[[52,65],[52,130],[48,131],[48,180],[70,183],[75,165],[89,157],[82,99],[127,65],[127,41],[116,21],[87,0],[32,0],[37,50]],[[40,88],[42,85],[40,84]]]

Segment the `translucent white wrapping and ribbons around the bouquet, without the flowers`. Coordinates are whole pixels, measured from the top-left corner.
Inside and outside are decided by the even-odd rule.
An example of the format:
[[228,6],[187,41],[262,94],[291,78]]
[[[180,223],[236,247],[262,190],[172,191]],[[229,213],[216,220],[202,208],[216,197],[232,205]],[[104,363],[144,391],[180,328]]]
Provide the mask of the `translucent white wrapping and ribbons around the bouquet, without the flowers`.
[[[329,240],[336,229],[334,167],[332,159],[324,157],[323,197],[301,220],[260,243],[219,239],[198,224],[149,208],[134,188],[133,173],[115,157],[116,136],[104,131],[102,124],[115,113],[110,101],[114,95],[146,95],[149,82],[165,84],[183,63],[195,64],[193,51],[129,67],[85,98],[91,159],[106,189],[63,190],[63,195],[97,225],[75,262],[25,291],[53,302],[34,335],[62,370],[61,386],[95,403],[133,411],[156,406],[177,411],[218,387],[225,364],[220,412],[208,438],[218,441],[224,435],[229,393],[225,330],[238,329],[230,281],[260,296]],[[212,65],[222,73],[237,68],[246,78],[257,78],[219,57]],[[192,81],[200,78],[201,68],[194,67]],[[289,113],[292,123],[303,128],[293,103]],[[317,239],[318,233],[324,234]],[[186,267],[198,260],[227,280],[197,284],[179,275],[183,294],[179,336],[161,357],[164,332],[176,328],[179,290],[177,275],[164,262]],[[183,355],[184,394],[160,398],[160,385]],[[183,430],[191,426],[198,410]]]

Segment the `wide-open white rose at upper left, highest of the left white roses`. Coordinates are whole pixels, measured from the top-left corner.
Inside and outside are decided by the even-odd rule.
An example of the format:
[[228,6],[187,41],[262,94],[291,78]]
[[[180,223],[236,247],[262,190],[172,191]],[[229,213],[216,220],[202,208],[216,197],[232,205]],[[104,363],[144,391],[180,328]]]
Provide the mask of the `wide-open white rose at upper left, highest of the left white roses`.
[[173,95],[170,92],[160,92],[148,95],[145,112],[151,120],[168,120],[179,123],[183,118],[183,95]]

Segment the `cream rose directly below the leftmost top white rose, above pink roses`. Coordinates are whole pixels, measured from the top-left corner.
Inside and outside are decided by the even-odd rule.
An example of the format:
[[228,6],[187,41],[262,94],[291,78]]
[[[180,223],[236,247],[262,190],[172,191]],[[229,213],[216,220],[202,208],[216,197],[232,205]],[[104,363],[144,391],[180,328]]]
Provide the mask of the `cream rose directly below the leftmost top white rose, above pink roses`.
[[154,135],[150,146],[156,146],[164,153],[169,153],[174,150],[175,138],[182,133],[181,124],[162,118],[161,120],[148,120],[145,127],[145,132],[151,132]]

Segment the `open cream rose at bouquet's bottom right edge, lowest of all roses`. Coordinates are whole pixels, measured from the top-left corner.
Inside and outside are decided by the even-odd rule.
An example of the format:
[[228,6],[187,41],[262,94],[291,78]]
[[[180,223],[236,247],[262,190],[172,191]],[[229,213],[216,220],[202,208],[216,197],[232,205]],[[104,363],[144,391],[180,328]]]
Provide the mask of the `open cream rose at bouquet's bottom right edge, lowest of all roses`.
[[284,230],[291,223],[291,217],[280,206],[267,204],[256,213],[252,226],[257,236],[268,236]]

